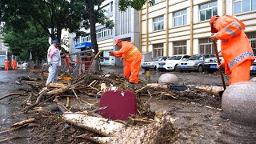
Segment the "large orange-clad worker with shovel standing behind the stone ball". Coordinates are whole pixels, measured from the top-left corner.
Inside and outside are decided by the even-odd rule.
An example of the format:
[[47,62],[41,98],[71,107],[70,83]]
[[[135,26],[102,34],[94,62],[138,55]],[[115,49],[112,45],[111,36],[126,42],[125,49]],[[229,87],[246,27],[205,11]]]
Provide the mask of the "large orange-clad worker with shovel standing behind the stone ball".
[[254,62],[254,53],[250,42],[243,32],[245,24],[231,15],[210,18],[210,40],[222,41],[222,57],[224,62],[218,68],[225,66],[225,73],[230,74],[229,84],[250,81],[250,66]]

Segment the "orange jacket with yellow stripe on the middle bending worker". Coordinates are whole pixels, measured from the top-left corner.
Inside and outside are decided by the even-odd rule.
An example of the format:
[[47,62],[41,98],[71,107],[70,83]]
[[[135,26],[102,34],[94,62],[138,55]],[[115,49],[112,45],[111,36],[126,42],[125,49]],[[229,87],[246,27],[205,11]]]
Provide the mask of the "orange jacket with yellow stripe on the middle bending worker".
[[142,60],[142,53],[138,50],[134,43],[128,41],[122,41],[122,47],[118,51],[114,51],[114,56],[117,58],[122,58],[126,62],[132,62],[134,60]]

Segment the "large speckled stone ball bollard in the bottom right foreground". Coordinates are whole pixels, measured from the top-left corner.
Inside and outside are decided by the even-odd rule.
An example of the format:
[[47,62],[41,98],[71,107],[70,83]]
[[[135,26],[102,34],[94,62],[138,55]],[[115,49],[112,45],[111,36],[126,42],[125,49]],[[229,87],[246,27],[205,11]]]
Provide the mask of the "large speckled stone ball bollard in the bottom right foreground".
[[222,95],[222,110],[230,119],[225,143],[256,142],[256,82],[229,86]]

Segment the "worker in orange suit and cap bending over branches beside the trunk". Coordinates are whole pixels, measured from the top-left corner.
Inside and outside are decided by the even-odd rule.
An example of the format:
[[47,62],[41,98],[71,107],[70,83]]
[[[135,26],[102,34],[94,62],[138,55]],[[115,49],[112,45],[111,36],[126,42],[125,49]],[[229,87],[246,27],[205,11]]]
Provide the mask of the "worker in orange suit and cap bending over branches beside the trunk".
[[141,67],[142,53],[134,46],[134,43],[122,41],[118,38],[114,42],[114,46],[121,48],[118,51],[110,50],[110,55],[124,60],[123,74],[125,78],[129,78],[130,86],[134,88],[134,84],[138,84],[138,73]]

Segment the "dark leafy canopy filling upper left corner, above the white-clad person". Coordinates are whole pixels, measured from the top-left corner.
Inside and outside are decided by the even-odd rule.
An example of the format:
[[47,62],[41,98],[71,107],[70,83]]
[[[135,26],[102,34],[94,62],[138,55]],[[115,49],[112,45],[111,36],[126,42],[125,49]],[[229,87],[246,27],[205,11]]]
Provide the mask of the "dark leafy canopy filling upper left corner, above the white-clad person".
[[23,30],[22,23],[30,20],[52,39],[61,40],[62,30],[78,32],[87,25],[88,13],[83,2],[77,0],[0,0],[0,3],[1,22]]

